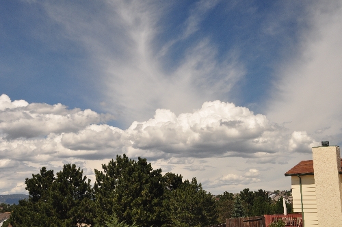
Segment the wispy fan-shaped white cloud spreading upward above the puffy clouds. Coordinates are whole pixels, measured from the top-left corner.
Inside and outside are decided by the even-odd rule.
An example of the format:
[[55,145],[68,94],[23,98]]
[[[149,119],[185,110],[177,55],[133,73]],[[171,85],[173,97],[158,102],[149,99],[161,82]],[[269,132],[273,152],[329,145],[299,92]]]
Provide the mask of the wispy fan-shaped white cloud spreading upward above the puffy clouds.
[[101,102],[106,104],[99,108],[115,114],[127,127],[133,120],[150,117],[158,108],[181,114],[207,100],[226,100],[233,85],[244,77],[246,70],[237,60],[238,51],[226,53],[218,61],[218,46],[211,44],[209,37],[182,48],[179,61],[168,68],[170,46],[183,45],[196,34],[207,12],[217,3],[195,3],[182,25],[183,34],[163,42],[158,42],[163,32],[160,23],[172,4],[108,1],[101,15],[90,21],[88,12],[73,3],[45,3],[44,8],[64,28],[64,36],[89,51],[103,92]]

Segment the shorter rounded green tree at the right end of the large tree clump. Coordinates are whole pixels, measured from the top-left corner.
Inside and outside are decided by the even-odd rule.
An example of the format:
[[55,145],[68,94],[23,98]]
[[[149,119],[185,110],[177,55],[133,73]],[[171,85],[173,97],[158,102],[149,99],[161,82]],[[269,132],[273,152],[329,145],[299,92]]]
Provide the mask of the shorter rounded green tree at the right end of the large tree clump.
[[216,224],[215,200],[202,189],[196,178],[172,190],[168,199],[168,224],[165,226],[209,226]]

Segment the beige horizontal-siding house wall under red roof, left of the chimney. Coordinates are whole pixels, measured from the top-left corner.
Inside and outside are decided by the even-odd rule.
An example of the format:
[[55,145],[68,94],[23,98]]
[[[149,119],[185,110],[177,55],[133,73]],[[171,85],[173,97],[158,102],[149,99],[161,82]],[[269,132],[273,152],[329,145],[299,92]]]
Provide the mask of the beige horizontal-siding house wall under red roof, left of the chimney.
[[[302,178],[302,195],[305,226],[318,226],[316,187],[313,175],[300,176]],[[300,201],[300,178],[291,176],[291,188],[293,197],[293,212],[302,213]]]

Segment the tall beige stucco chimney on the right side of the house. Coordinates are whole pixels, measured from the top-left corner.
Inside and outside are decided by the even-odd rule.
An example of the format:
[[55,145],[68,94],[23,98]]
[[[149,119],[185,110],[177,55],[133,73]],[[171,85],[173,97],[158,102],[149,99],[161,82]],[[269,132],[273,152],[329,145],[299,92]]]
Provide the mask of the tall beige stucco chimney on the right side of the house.
[[322,227],[342,226],[340,159],[339,146],[313,148],[317,216]]

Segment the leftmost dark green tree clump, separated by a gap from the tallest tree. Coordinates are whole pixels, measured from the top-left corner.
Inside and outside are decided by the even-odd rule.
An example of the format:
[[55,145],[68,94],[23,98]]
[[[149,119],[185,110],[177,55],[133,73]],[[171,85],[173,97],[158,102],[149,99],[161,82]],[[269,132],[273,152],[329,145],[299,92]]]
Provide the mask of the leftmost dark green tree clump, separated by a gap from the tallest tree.
[[46,168],[26,178],[28,200],[20,200],[10,216],[12,226],[77,226],[92,224],[92,189],[83,170],[64,165],[57,178]]

